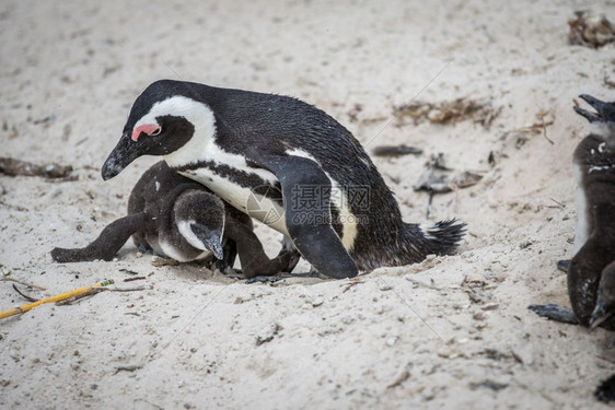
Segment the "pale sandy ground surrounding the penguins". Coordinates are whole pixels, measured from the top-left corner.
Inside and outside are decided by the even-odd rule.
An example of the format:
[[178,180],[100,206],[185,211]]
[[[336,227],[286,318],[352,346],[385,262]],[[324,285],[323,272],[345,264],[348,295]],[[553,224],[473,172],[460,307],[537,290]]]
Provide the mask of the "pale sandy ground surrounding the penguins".
[[[1,321],[0,408],[603,406],[592,391],[615,371],[613,335],[526,309],[568,304],[555,262],[571,256],[570,156],[587,131],[572,98],[615,93],[604,82],[615,78],[613,45],[568,45],[567,20],[579,9],[615,19],[613,1],[2,1],[1,155],[70,164],[79,176],[0,176],[3,273],[46,286],[22,286],[37,297],[102,278],[126,285],[120,269],[153,289]],[[443,152],[484,179],[437,196],[430,219],[457,216],[469,234],[454,256],[379,269],[352,286],[247,285],[194,265],[155,268],[131,244],[115,262],[53,262],[54,246],[84,245],[121,216],[155,161],[100,177],[134,98],[161,78],[293,95],[368,149],[423,148],[375,160],[407,221],[425,221],[428,196],[411,186]],[[465,120],[383,130],[393,107],[419,92],[433,103],[487,99],[501,112],[489,129]],[[553,144],[509,132],[544,112]],[[275,254],[279,235],[258,233]],[[22,303],[0,281],[0,311]]]

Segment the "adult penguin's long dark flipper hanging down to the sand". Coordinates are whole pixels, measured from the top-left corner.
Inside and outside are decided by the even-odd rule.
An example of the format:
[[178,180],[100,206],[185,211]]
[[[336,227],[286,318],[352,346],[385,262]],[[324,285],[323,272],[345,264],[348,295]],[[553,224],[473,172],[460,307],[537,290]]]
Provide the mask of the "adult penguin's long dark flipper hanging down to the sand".
[[[332,183],[321,166],[302,156],[260,156],[260,165],[276,175],[282,187],[288,233],[301,255],[321,273],[353,278],[359,273],[341,239],[332,226]],[[302,206],[297,187],[320,187],[320,206]],[[301,190],[299,190],[299,194]]]

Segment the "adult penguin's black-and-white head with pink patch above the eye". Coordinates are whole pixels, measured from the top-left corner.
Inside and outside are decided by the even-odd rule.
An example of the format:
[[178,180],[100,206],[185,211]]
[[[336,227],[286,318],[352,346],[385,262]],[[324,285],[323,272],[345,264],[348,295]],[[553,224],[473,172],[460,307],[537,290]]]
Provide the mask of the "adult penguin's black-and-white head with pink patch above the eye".
[[130,108],[121,137],[102,167],[103,179],[113,178],[141,155],[177,151],[199,124],[211,128],[213,122],[192,83],[160,80],[150,84]]

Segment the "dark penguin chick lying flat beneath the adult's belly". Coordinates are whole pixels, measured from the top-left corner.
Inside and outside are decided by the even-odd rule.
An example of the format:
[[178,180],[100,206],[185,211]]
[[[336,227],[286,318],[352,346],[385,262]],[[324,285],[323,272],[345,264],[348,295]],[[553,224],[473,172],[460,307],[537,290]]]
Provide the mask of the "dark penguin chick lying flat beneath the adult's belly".
[[51,257],[58,262],[112,260],[131,235],[140,249],[181,262],[216,258],[222,260],[219,267],[232,267],[239,254],[247,278],[291,271],[299,260],[295,251],[269,259],[247,215],[164,162],[154,164],[134,187],[127,216],[107,225],[86,247],[55,248]]

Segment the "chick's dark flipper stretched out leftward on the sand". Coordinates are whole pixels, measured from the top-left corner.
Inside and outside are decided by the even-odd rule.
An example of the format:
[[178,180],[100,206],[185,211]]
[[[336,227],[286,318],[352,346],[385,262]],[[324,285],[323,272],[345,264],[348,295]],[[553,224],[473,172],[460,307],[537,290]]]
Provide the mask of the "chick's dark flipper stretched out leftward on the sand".
[[94,242],[84,248],[54,248],[51,258],[59,263],[103,259],[109,261],[135,232],[146,227],[146,212],[134,213],[109,223]]

